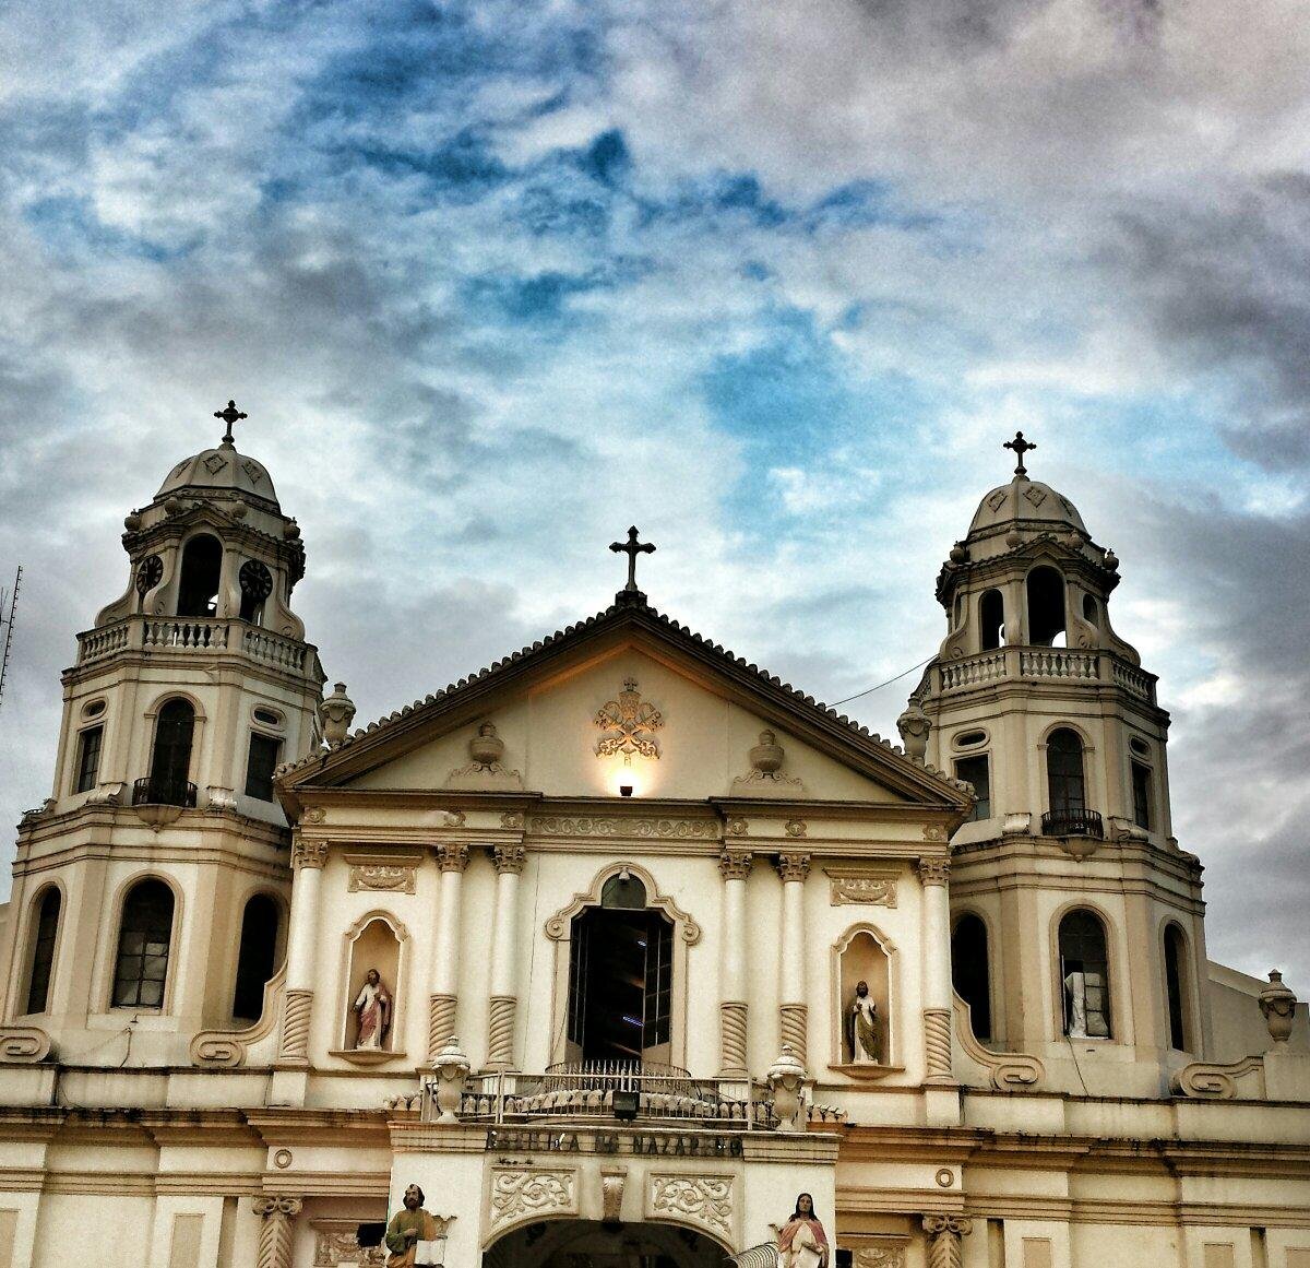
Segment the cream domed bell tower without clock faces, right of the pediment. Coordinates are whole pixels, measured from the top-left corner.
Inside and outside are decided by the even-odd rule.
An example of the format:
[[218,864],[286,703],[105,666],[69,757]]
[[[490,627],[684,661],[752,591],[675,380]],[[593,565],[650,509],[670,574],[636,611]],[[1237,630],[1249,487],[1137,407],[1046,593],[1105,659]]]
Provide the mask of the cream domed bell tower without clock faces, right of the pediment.
[[[947,634],[907,751],[973,785],[952,838],[952,963],[975,1034],[1154,1094],[1208,1044],[1201,868],[1170,821],[1169,714],[1111,625],[1119,559],[1028,477],[988,493],[937,580]],[[1119,1086],[1127,1090],[1125,1083]]]

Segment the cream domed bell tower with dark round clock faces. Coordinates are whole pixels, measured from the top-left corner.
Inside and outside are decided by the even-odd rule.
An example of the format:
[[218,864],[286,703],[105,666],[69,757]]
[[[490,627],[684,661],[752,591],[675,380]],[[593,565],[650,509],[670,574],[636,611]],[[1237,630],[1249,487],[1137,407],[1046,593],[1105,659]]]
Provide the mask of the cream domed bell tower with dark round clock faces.
[[126,589],[77,635],[51,796],[18,830],[4,1016],[60,1060],[186,1064],[195,1031],[259,1016],[282,958],[272,775],[320,743],[324,673],[291,609],[300,529],[236,448],[246,415],[215,417],[217,447],[124,520]]

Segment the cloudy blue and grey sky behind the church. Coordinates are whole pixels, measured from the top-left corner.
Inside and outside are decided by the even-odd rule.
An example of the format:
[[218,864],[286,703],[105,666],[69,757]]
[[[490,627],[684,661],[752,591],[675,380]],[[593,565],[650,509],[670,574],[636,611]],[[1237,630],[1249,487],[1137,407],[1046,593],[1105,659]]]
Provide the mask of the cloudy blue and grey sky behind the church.
[[0,820],[229,396],[360,720],[603,608],[634,521],[659,608],[859,692],[1023,427],[1123,561],[1212,954],[1310,993],[1302,4],[103,0],[0,47]]

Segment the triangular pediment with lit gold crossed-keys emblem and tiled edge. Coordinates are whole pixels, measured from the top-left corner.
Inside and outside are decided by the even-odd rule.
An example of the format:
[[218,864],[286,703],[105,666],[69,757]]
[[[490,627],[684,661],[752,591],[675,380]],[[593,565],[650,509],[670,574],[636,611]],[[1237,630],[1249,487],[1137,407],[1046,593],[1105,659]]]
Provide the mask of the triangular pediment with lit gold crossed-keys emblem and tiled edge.
[[356,732],[283,786],[968,804],[955,781],[645,605]]

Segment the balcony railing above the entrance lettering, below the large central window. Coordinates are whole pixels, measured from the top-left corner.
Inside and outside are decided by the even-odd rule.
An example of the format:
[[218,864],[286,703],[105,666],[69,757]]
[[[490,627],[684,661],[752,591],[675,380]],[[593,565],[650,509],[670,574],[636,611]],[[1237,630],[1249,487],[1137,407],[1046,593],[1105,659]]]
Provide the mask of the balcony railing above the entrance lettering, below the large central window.
[[[617,1103],[616,1103],[617,1102]],[[576,1062],[544,1074],[485,1074],[469,1081],[460,1104],[464,1123],[527,1124],[542,1120],[635,1123],[773,1130],[768,1089],[756,1083],[692,1078],[675,1066],[625,1061]],[[424,1086],[423,1117],[438,1116],[435,1085]]]

